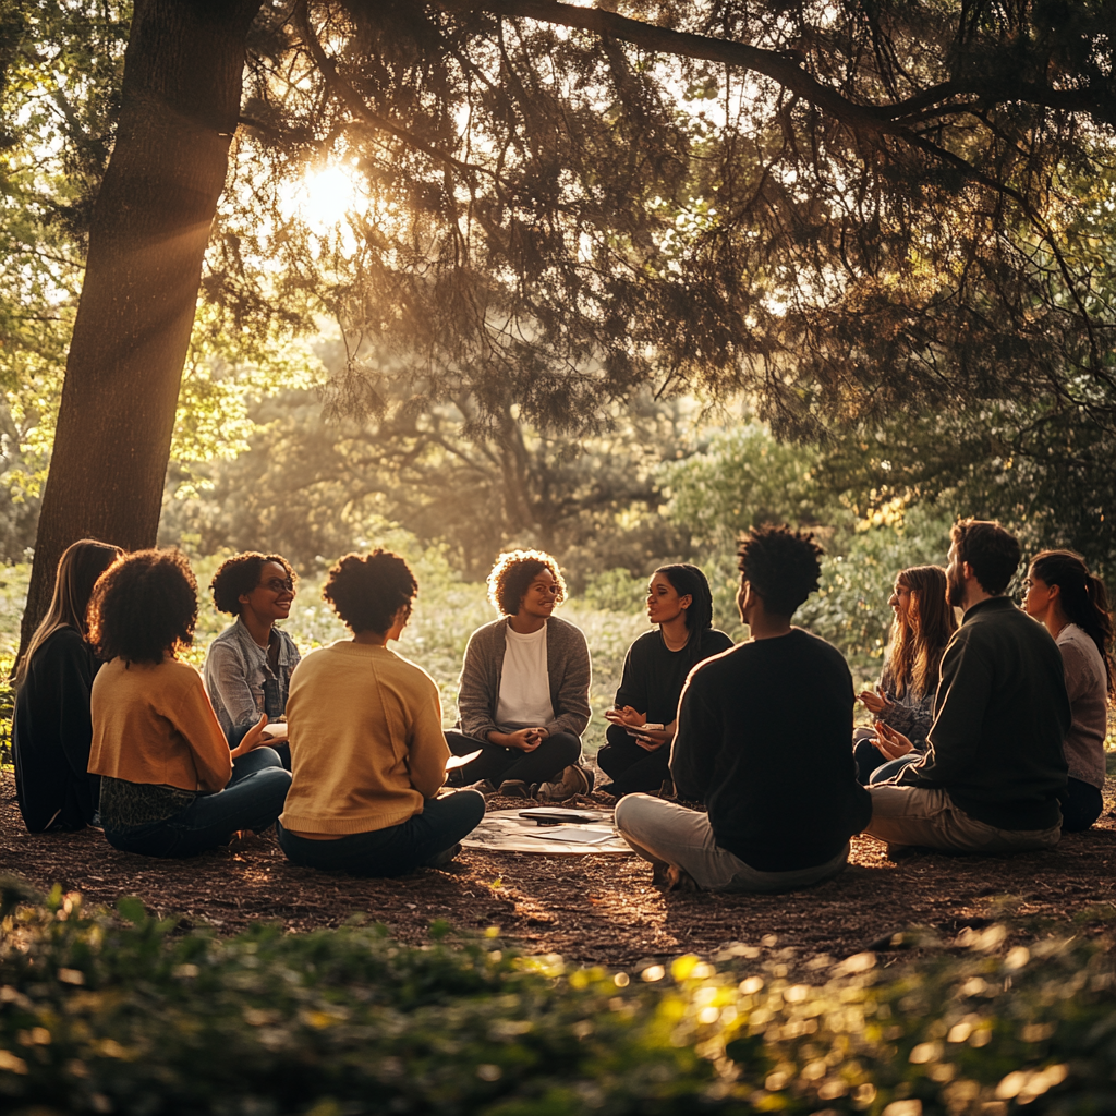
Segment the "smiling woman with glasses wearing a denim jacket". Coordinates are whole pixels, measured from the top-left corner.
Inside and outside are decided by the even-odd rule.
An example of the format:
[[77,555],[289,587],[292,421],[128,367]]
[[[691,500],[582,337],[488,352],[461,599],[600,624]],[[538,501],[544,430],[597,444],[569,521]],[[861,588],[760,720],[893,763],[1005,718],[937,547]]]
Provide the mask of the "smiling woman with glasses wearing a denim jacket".
[[210,589],[222,613],[235,616],[205,655],[205,690],[227,737],[254,724],[267,713],[269,743],[290,770],[287,712],[290,674],[299,654],[286,632],[276,627],[290,615],[296,576],[281,555],[234,555],[213,575]]

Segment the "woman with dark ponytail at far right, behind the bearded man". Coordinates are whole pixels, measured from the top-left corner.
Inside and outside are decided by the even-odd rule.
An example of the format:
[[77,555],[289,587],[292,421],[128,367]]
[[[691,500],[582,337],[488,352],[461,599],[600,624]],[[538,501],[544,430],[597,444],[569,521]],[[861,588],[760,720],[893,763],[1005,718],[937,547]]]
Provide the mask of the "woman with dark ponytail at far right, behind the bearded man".
[[1104,809],[1108,703],[1116,690],[1113,618],[1104,581],[1072,550],[1043,550],[1031,559],[1023,607],[1046,624],[1066,668],[1072,724],[1064,744],[1069,783],[1061,831],[1088,829]]

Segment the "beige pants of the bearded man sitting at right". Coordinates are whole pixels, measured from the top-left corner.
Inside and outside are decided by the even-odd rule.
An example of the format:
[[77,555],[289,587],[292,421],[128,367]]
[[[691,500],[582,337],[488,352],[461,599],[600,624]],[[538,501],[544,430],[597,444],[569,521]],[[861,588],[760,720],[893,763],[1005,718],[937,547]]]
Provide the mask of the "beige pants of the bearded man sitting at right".
[[869,787],[872,820],[865,833],[894,845],[918,845],[951,853],[1024,853],[1054,848],[1061,822],[1050,829],[997,829],[969,817],[944,790],[924,787]]

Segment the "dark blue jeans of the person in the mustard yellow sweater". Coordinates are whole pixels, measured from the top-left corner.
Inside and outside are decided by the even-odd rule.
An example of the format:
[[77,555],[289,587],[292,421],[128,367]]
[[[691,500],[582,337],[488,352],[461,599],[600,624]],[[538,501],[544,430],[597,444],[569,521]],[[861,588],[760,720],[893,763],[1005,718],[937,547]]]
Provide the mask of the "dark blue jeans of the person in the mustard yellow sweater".
[[484,796],[455,790],[427,798],[422,814],[397,826],[349,834],[334,840],[299,837],[279,826],[279,847],[291,864],[304,868],[341,870],[354,876],[402,876],[439,859],[484,817]]

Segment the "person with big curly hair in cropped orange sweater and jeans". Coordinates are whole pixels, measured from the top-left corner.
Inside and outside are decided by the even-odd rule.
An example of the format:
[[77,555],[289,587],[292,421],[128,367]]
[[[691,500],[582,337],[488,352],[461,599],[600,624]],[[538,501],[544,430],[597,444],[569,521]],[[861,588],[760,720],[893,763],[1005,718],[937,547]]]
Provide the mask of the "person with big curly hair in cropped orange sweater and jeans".
[[225,740],[201,675],[175,657],[196,620],[198,583],[174,550],[126,555],[93,590],[89,639],[107,662],[93,684],[89,771],[105,836],[126,853],[194,856],[260,833],[290,786],[261,747],[267,716]]

